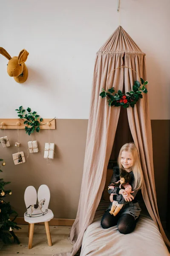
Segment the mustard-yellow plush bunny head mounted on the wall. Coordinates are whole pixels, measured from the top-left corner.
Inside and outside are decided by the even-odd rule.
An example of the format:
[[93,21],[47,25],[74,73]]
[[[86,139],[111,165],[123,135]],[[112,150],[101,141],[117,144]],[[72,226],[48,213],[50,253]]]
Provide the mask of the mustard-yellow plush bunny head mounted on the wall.
[[23,49],[18,57],[14,56],[11,58],[9,53],[0,47],[0,53],[9,60],[7,64],[7,72],[9,76],[13,76],[17,83],[24,83],[28,77],[28,70],[24,62],[26,62],[29,52]]

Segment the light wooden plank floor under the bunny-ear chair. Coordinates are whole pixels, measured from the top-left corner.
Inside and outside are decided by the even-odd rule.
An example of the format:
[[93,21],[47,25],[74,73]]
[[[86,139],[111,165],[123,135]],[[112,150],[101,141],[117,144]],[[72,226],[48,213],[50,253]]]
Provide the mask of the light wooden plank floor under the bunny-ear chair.
[[55,253],[71,251],[72,244],[67,237],[71,227],[49,226],[52,246],[48,246],[46,230],[43,225],[35,225],[32,249],[28,249],[28,225],[19,225],[21,230],[16,230],[15,234],[20,239],[20,244],[3,244],[0,242],[0,256],[52,256]]

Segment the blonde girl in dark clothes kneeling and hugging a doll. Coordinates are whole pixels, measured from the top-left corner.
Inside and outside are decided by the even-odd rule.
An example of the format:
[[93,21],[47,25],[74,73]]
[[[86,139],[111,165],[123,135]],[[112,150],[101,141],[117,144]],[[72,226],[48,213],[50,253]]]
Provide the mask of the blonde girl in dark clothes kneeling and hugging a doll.
[[113,195],[112,200],[118,201],[118,204],[125,205],[122,207],[120,212],[114,216],[109,213],[112,207],[111,203],[101,219],[101,226],[103,228],[109,228],[118,224],[119,232],[128,234],[135,229],[137,218],[141,212],[141,208],[139,207],[138,201],[135,197],[143,183],[141,163],[139,160],[138,150],[134,143],[126,143],[121,147],[118,155],[118,166],[113,168],[111,183],[115,183],[120,179],[119,168],[124,168],[130,173],[130,185],[133,193],[124,196],[124,189],[115,187],[114,189],[108,190],[109,194],[116,194]]

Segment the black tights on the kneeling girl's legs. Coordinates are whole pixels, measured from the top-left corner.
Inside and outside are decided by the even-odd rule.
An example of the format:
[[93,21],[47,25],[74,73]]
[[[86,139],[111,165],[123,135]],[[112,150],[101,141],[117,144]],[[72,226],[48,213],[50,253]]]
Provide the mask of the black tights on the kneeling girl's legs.
[[120,213],[118,213],[114,216],[109,211],[110,209],[104,213],[101,219],[101,227],[109,228],[118,224],[118,231],[122,234],[129,234],[135,229],[137,220],[132,215],[124,213],[120,216]]

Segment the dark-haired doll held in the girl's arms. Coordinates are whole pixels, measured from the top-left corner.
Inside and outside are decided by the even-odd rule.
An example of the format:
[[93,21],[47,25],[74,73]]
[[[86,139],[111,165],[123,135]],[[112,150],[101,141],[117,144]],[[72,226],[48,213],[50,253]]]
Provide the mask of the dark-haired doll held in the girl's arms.
[[[131,191],[132,187],[129,184],[130,182],[130,174],[124,169],[120,170],[120,180],[118,182],[112,183],[108,186],[108,189],[114,189],[115,187],[119,187],[120,189],[124,189],[123,195],[127,196]],[[116,194],[110,194],[110,201],[112,201],[112,196]],[[112,207],[109,211],[110,214],[116,216],[118,212],[124,204],[118,204],[118,201],[112,201]]]

